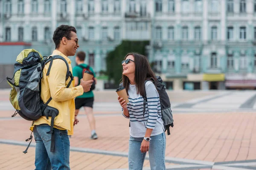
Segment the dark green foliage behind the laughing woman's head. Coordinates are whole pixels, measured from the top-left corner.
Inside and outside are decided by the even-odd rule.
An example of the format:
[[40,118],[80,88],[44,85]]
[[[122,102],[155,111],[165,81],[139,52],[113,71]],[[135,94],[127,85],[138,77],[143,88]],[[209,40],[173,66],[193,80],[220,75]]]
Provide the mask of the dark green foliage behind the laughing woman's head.
[[122,60],[126,54],[136,52],[145,55],[145,47],[149,41],[122,41],[122,43],[108,53],[106,58],[108,79],[113,79],[116,85],[119,85],[122,79]]

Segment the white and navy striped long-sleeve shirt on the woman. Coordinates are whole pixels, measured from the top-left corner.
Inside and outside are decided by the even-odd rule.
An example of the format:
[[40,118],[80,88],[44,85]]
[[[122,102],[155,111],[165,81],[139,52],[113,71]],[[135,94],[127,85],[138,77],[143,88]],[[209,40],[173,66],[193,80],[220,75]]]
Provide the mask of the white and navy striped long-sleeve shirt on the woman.
[[[151,81],[146,82],[145,89],[147,103],[143,118],[143,97],[137,94],[135,85],[129,85],[129,103],[127,108],[131,123],[130,135],[135,138],[144,137],[146,128],[153,129],[151,136],[163,133],[163,120],[161,119],[161,106],[157,89]],[[124,114],[122,115],[125,116]]]

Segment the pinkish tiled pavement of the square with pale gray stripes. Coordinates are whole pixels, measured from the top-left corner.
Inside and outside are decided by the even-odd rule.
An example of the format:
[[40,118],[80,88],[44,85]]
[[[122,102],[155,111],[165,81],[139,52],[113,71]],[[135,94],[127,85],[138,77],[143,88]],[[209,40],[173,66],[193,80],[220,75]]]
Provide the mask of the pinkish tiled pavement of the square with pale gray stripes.
[[[70,139],[70,167],[72,170],[128,169],[128,119],[123,118],[118,111],[119,108],[113,104],[116,99],[113,91],[97,93],[96,95],[100,97],[96,97],[96,105],[101,108],[96,109],[99,139],[90,140],[87,119],[81,111],[80,122]],[[223,97],[225,99],[230,95],[233,95],[233,101],[230,102],[240,105],[247,101],[244,94],[236,94],[236,92],[230,94],[225,91],[209,91],[201,94],[200,92],[175,93],[177,100],[175,97],[171,99],[172,103],[177,104],[177,113],[176,108],[173,108],[175,127],[171,129],[172,134],[166,136],[167,169],[256,169],[256,113],[253,108],[248,111],[230,109],[229,112],[193,110],[196,105],[207,103],[209,105],[211,102],[213,105],[219,105],[215,102],[216,99],[227,102]],[[253,95],[248,96],[248,99]],[[241,99],[243,97],[244,99]],[[6,104],[7,102],[8,94],[6,96],[6,92],[0,91],[0,105],[2,104],[1,108],[5,108],[0,111],[0,169],[32,170],[34,141],[28,153],[22,153],[26,148],[24,139],[30,135],[30,122],[18,116],[10,118],[13,111]],[[100,102],[106,105],[101,106]],[[193,105],[190,108],[185,107],[186,112],[178,111],[179,105],[188,103]],[[148,160],[145,160],[144,167],[150,169]]]

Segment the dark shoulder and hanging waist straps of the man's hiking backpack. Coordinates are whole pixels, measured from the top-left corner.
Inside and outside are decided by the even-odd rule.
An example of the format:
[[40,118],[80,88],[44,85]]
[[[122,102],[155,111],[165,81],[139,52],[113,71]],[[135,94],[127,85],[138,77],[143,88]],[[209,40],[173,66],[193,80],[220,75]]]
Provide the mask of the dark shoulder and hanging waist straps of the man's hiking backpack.
[[[71,82],[73,81],[74,77],[73,77],[71,71],[69,70],[68,63],[67,63],[66,59],[64,59],[64,57],[62,57],[60,55],[50,56],[49,59],[44,63],[44,65],[46,65],[48,62],[50,62],[50,65],[49,65],[49,68],[48,68],[48,71],[47,71],[46,75],[49,76],[49,74],[50,74],[53,59],[61,59],[66,63],[66,65],[67,65],[66,81],[70,77],[70,82],[68,83],[66,88],[69,88],[69,86],[71,85]],[[48,101],[45,103],[45,106],[42,109],[42,112],[44,112],[45,108],[47,107],[47,105],[49,104],[49,102],[51,100],[52,100],[52,97],[50,97],[48,99]],[[58,114],[56,115],[55,111],[48,110],[47,115],[45,115],[47,117],[47,119],[49,119],[49,115],[52,117],[52,119],[51,119],[51,128],[50,128],[50,131],[47,132],[47,134],[52,134],[52,137],[51,137],[51,152],[54,152],[55,135],[54,135],[53,125],[54,125],[54,119],[55,119],[56,116],[58,116]]]

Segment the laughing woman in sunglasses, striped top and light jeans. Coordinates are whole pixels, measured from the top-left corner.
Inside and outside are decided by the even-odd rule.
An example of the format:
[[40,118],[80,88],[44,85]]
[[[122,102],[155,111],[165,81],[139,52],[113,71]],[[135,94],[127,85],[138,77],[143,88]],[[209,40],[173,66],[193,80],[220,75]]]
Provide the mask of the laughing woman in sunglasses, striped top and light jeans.
[[[130,119],[130,140],[128,162],[129,170],[142,170],[145,155],[148,151],[151,170],[165,170],[166,136],[161,106],[157,89],[147,79],[156,77],[147,58],[143,55],[130,53],[122,61],[122,82],[129,96],[126,104],[118,97],[122,106],[122,115]],[[143,116],[143,96],[147,102]],[[122,102],[121,102],[122,101]]]

